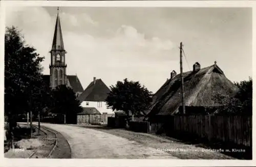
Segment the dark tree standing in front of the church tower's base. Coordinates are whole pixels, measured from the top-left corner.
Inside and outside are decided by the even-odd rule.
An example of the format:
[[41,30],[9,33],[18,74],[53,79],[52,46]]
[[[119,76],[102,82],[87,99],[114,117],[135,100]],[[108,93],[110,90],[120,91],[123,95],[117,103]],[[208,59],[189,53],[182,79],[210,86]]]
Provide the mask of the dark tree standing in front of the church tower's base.
[[60,85],[53,90],[53,103],[53,112],[64,115],[64,123],[66,123],[66,118],[69,118],[67,123],[74,123],[76,114],[83,110],[74,91],[66,85]]

